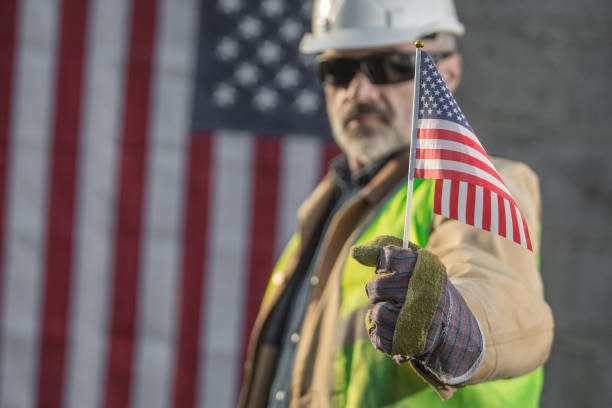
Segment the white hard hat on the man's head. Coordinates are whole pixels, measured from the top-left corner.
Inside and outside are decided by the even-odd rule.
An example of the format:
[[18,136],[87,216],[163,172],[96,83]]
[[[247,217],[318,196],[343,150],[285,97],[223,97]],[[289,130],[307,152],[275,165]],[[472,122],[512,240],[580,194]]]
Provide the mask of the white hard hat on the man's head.
[[393,45],[447,32],[462,35],[453,0],[314,0],[306,54]]

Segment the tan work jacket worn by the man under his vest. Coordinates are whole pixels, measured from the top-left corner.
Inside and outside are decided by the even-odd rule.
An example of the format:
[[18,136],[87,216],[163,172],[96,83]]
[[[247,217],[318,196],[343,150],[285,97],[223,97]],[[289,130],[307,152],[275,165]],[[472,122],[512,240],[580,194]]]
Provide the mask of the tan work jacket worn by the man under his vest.
[[[537,176],[522,163],[499,158],[493,162],[526,219],[534,252],[490,232],[437,215],[427,244],[446,265],[449,279],[482,326],[486,354],[468,384],[516,377],[534,370],[548,358],[553,338],[553,317],[543,297],[535,259],[539,252],[541,208]],[[392,159],[330,223],[316,260],[316,279],[312,281],[312,295],[293,368],[290,406],[329,406],[331,364],[334,344],[338,342],[331,337],[338,321],[337,288],[342,266],[361,226],[381,200],[405,180],[407,163],[406,155]],[[277,287],[262,305],[253,328],[240,406],[257,407],[267,400],[278,350],[261,344],[260,335],[295,270],[305,243],[333,197],[333,187],[333,179],[328,175],[298,212],[301,247],[287,268],[272,277]],[[355,335],[365,336],[365,329]],[[433,376],[419,374],[443,398],[449,398],[454,392],[453,387],[439,383]]]

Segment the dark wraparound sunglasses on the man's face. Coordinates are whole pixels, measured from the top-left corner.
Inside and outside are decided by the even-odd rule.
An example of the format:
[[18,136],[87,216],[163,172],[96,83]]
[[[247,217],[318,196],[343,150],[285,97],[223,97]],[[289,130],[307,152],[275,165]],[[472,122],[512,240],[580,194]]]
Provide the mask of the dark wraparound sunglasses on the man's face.
[[[452,52],[430,53],[436,62]],[[413,52],[389,51],[370,54],[363,58],[317,58],[319,79],[322,83],[346,88],[357,71],[361,71],[375,85],[394,84],[414,78],[415,55]]]

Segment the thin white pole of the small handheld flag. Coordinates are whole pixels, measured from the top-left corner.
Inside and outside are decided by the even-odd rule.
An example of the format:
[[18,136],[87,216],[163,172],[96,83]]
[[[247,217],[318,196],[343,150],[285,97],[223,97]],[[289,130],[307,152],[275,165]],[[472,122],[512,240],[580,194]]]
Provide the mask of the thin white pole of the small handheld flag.
[[410,162],[408,163],[408,189],[406,192],[406,219],[404,220],[404,248],[408,249],[410,242],[410,215],[412,213],[412,189],[414,186],[414,165],[416,161],[416,139],[418,127],[418,106],[421,94],[421,48],[422,41],[416,41],[415,59],[414,59],[414,99],[412,100],[412,135],[410,137]]

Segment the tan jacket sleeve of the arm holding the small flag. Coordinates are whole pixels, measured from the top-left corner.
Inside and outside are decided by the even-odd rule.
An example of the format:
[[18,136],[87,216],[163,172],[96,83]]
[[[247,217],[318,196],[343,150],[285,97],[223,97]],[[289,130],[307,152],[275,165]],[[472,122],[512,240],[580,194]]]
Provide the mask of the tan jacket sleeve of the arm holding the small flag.
[[427,244],[482,327],[486,353],[467,384],[531,372],[546,361],[553,339],[553,317],[538,267],[538,179],[522,163],[497,159],[495,165],[525,217],[533,252],[440,216],[434,217]]

